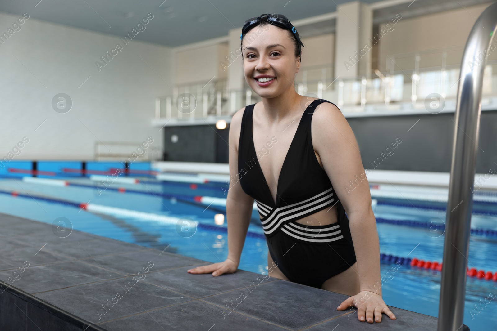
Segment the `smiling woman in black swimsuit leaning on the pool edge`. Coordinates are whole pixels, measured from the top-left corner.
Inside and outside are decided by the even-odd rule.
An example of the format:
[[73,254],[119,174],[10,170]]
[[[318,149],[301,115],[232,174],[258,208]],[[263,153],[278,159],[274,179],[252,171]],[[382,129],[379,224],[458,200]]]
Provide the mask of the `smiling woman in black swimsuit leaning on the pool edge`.
[[382,312],[395,320],[381,296],[378,233],[352,130],[329,101],[296,93],[303,44],[285,16],[249,19],[240,39],[245,78],[262,101],[231,122],[228,258],[188,272],[237,270],[255,199],[270,276],[349,295],[337,310],[355,306],[359,321],[381,322]]

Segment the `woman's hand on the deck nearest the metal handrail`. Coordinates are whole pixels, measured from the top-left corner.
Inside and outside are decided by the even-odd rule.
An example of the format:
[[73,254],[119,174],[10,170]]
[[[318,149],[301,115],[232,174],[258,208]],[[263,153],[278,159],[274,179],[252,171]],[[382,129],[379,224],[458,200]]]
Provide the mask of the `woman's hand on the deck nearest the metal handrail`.
[[345,310],[349,307],[357,308],[357,318],[361,322],[373,323],[373,318],[374,321],[381,322],[381,313],[385,313],[391,320],[396,319],[381,295],[374,292],[361,291],[343,301],[336,310]]

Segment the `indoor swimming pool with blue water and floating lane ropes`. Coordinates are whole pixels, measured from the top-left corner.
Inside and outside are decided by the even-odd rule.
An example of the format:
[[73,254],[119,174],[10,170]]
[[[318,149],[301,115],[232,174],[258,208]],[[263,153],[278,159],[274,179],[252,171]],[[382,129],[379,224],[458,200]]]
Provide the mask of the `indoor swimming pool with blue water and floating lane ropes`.
[[[87,169],[105,172],[120,166],[119,163],[95,163],[88,164]],[[144,171],[150,170],[150,165],[141,166]],[[44,168],[38,169],[50,171],[47,169],[51,167],[61,169],[60,163],[45,164]],[[21,173],[16,174],[16,178],[1,179],[0,191],[3,194],[0,194],[0,212],[51,224],[67,224],[77,230],[166,249],[210,262],[224,261],[227,257],[226,222],[222,221],[221,216],[216,216],[223,214],[223,207],[216,203],[208,206],[198,203],[198,199],[193,199],[201,196],[226,198],[223,194],[226,184],[211,182],[190,185],[141,177],[142,181],[138,184],[111,182],[104,187],[105,190],[101,186],[97,190],[95,181],[81,174],[56,175],[59,176],[40,177],[63,178],[70,185],[26,182],[22,180],[25,174]],[[376,188],[372,187],[372,195],[377,202],[374,204],[374,212],[381,253],[441,262],[445,210],[443,199],[437,200],[435,196],[443,196],[444,192],[436,191],[438,189],[433,191],[431,188],[406,187],[400,189],[407,199],[400,199],[385,193],[388,190],[380,192],[375,191]],[[430,200],[413,199],[416,198],[413,194],[421,194]],[[473,221],[486,225],[486,229],[490,231],[476,231],[471,236],[468,258],[470,268],[497,271],[497,229],[494,226],[497,224],[497,208],[493,202],[495,198],[493,192],[481,191],[475,195],[476,214]],[[103,209],[90,211],[91,208],[84,208],[85,203],[115,209],[102,207]],[[66,224],[58,223],[61,220]],[[267,246],[262,228],[257,222],[257,213],[254,210],[253,222],[249,225],[249,235],[239,267],[260,273],[266,271]],[[420,226],[422,224],[428,226]],[[394,271],[392,268],[395,266],[397,268]],[[408,263],[399,267],[393,262],[383,260],[381,275],[383,296],[387,304],[426,315],[437,315],[440,271],[411,266]],[[497,282],[492,280],[468,277],[464,323],[471,330],[495,330],[497,300],[492,299],[492,296],[497,295],[496,284]]]

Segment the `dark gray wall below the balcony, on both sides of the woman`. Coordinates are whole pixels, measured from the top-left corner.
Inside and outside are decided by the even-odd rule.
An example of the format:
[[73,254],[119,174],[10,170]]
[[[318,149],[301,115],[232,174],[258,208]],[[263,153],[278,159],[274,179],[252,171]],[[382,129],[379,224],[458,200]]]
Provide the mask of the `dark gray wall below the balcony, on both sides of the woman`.
[[[450,172],[453,120],[454,113],[347,119],[359,144],[364,168],[436,172]],[[168,161],[228,162],[229,126],[225,130],[217,130],[214,125],[163,130]],[[178,135],[178,142],[171,142],[172,134]],[[386,151],[397,137],[402,142]],[[497,111],[482,112],[478,145],[476,171],[497,170]]]

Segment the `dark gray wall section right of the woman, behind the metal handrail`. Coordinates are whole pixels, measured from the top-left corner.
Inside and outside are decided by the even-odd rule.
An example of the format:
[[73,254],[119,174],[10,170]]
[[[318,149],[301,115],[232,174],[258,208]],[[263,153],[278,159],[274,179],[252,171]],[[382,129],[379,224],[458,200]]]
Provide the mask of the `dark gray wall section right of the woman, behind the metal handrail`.
[[[450,172],[453,120],[454,113],[347,119],[359,144],[364,168],[441,172]],[[494,163],[497,163],[496,129],[497,111],[482,112],[476,162],[478,173],[497,169]],[[380,155],[397,137],[402,142],[389,150],[391,155],[385,158],[387,153],[383,154],[383,160]],[[381,163],[374,163],[377,158]]]

